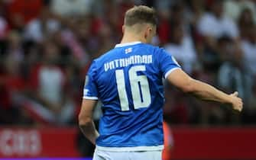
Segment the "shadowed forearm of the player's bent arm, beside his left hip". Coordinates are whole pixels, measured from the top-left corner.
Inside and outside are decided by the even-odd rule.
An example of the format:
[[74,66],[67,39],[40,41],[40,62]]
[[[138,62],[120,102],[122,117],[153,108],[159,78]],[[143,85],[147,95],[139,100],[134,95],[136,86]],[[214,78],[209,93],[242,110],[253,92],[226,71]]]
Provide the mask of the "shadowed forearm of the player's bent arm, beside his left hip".
[[83,132],[84,136],[86,136],[89,141],[91,141],[94,145],[96,144],[96,139],[99,136],[98,131],[92,120],[87,122],[79,121],[79,128]]

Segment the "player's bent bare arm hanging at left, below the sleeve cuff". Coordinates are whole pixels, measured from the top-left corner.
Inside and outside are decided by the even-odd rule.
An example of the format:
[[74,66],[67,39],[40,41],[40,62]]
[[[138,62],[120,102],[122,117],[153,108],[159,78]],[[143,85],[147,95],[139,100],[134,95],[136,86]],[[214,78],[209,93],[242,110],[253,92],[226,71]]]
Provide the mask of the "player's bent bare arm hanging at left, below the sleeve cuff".
[[83,99],[78,117],[80,130],[94,145],[96,144],[96,138],[99,136],[92,120],[93,108],[96,106],[96,103],[96,100]]

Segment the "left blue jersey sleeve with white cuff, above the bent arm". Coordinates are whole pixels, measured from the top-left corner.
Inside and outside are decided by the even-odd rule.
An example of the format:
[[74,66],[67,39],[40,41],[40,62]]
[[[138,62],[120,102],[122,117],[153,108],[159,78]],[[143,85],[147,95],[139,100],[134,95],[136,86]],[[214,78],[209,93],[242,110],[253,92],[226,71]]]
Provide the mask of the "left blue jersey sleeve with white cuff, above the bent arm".
[[89,100],[98,100],[98,89],[96,85],[96,62],[93,61],[86,75],[86,82],[83,88],[83,98]]

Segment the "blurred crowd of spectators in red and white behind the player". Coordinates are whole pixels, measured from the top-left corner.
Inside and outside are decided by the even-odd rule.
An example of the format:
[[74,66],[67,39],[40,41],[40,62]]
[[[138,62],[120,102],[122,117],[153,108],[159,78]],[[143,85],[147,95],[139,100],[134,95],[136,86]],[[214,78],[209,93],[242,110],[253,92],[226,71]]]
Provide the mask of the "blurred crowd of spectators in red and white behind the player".
[[256,124],[253,0],[0,0],[0,124],[76,125],[90,63],[120,42],[134,5],[157,9],[154,45],[193,78],[238,91],[245,103],[238,114],[165,83],[167,122]]

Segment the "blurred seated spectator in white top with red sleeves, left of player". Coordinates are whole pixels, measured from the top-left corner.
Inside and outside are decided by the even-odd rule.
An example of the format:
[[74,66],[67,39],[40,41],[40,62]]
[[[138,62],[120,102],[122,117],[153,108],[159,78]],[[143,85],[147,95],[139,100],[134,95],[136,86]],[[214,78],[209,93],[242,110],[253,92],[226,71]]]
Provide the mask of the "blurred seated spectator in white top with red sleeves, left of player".
[[28,112],[39,122],[53,125],[68,124],[73,120],[74,104],[66,92],[66,75],[58,65],[60,48],[52,41],[44,43],[42,62],[31,71],[31,97],[26,106]]

